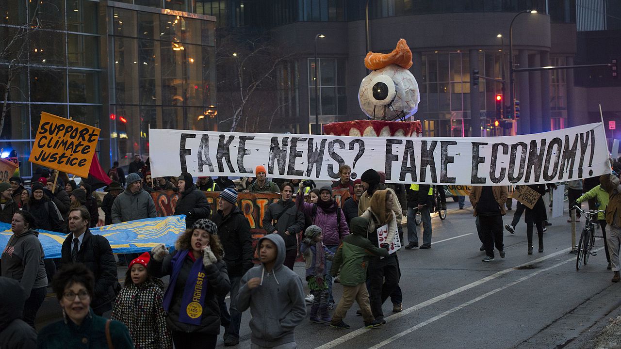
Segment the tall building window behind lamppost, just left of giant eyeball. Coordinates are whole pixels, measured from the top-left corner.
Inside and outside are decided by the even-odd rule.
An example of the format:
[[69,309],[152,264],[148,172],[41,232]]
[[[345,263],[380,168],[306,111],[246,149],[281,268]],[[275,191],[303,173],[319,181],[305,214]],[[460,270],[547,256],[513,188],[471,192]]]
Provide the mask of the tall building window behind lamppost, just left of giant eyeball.
[[[347,114],[345,96],[345,59],[318,58],[319,113],[322,122],[334,122]],[[309,115],[315,116],[315,60],[309,58]]]

